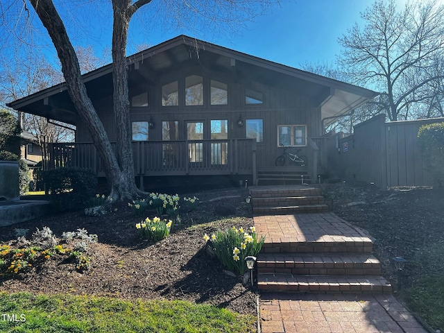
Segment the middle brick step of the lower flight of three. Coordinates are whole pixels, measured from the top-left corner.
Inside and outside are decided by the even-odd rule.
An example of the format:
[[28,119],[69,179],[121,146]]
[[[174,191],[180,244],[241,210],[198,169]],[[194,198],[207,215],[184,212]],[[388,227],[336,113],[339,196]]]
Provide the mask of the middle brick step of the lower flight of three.
[[369,253],[260,253],[257,271],[293,275],[380,275],[381,264]]

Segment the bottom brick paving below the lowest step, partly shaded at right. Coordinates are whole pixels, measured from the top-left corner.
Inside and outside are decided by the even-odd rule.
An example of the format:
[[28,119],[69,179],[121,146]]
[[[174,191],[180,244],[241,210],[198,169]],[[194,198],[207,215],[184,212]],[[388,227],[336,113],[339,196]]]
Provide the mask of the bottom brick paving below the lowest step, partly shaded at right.
[[392,295],[262,293],[263,333],[427,333]]

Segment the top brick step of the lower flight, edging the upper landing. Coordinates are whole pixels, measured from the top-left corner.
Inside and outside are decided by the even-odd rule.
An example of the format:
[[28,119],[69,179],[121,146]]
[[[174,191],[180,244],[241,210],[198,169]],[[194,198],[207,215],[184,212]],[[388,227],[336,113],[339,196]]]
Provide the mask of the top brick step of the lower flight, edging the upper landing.
[[316,241],[270,241],[265,239],[261,253],[371,253],[368,237],[323,236]]

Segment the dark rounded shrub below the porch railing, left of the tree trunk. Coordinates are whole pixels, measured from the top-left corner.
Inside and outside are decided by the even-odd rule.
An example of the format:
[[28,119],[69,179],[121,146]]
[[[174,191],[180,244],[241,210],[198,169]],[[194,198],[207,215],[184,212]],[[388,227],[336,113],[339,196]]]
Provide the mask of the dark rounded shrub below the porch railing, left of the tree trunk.
[[51,202],[59,210],[85,208],[97,186],[96,175],[87,169],[60,168],[42,171],[42,179],[51,194]]

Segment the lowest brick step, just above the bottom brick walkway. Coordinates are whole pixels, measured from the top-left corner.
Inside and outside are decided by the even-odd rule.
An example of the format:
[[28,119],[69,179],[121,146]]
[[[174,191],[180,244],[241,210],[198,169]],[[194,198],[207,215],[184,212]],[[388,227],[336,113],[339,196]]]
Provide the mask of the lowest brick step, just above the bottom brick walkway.
[[381,276],[257,274],[262,291],[287,293],[391,293],[391,284]]

